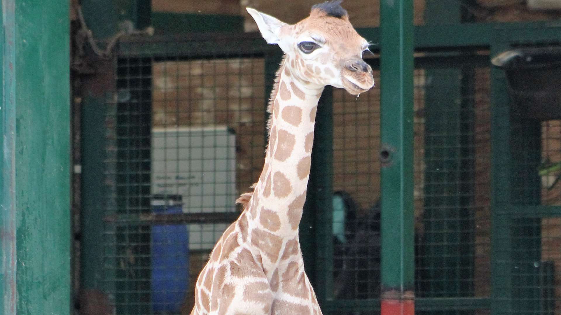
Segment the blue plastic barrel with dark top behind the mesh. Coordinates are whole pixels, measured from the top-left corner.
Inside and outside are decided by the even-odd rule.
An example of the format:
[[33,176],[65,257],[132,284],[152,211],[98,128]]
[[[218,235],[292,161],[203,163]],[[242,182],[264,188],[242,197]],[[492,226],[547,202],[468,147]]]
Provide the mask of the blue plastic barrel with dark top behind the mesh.
[[[155,196],[156,214],[181,214],[181,196]],[[189,235],[185,224],[152,226],[151,294],[154,313],[178,313],[189,284]]]

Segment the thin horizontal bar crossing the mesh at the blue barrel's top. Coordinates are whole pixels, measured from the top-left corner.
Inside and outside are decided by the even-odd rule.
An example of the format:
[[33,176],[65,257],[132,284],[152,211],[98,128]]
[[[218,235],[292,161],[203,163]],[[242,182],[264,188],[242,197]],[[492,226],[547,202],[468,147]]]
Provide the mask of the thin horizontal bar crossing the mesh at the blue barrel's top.
[[103,221],[116,225],[154,225],[154,224],[207,224],[232,223],[240,214],[238,212],[212,212],[189,214],[130,214],[105,216]]

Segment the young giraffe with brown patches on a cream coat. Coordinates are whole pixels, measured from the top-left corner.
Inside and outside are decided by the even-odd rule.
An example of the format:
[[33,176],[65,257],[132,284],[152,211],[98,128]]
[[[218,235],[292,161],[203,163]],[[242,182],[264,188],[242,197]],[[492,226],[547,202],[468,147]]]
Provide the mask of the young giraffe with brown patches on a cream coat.
[[195,288],[192,315],[321,314],[304,271],[298,224],[306,199],[318,101],[326,85],[359,94],[374,85],[367,42],[341,1],[312,7],[295,25],[248,8],[285,55],[269,103],[269,143],[243,212],[218,240]]

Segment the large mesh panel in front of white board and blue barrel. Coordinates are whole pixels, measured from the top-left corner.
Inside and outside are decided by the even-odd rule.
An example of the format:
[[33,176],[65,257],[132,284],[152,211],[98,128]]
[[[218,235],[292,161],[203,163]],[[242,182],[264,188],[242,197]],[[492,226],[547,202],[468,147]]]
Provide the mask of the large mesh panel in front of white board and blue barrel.
[[[232,45],[224,53],[218,40],[180,44],[216,49],[195,56],[151,42],[157,54],[117,60],[103,240],[117,314],[190,312],[196,277],[239,214],[235,199],[263,168],[263,53]],[[144,44],[125,45],[137,53]]]

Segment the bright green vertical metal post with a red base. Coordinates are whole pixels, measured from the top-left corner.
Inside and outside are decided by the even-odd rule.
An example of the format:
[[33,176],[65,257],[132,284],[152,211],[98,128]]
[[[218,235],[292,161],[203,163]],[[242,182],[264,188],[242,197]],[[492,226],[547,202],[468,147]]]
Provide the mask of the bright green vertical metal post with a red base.
[[414,313],[413,1],[380,2],[381,314]]

